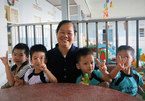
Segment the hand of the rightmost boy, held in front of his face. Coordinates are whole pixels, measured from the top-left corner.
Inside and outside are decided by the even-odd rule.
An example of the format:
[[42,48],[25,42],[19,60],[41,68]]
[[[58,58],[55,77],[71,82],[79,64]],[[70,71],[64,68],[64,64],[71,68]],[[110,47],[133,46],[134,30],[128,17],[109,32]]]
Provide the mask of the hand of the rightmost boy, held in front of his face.
[[117,67],[120,69],[120,70],[124,70],[125,69],[125,62],[127,60],[127,57],[125,58],[122,58],[121,56],[118,56],[117,57]]

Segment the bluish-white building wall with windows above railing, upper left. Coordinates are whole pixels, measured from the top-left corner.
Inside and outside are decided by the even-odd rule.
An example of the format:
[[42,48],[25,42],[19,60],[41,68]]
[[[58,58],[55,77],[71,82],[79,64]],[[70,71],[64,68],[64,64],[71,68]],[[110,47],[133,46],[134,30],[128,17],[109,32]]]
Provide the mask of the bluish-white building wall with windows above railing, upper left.
[[[19,23],[35,23],[34,16],[39,16],[41,22],[60,21],[61,11],[48,3],[46,0],[38,0],[38,7],[34,8],[36,0],[15,0],[14,8],[19,10]],[[7,4],[7,0],[5,0]]]

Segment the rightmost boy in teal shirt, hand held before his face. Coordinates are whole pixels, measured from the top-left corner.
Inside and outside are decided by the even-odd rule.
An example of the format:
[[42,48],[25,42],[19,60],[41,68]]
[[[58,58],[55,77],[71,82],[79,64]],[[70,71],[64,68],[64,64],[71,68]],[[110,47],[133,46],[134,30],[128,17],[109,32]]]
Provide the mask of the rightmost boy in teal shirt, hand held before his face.
[[117,49],[117,67],[112,70],[113,89],[136,96],[138,87],[144,84],[142,77],[131,64],[134,61],[134,49],[127,45],[122,45]]

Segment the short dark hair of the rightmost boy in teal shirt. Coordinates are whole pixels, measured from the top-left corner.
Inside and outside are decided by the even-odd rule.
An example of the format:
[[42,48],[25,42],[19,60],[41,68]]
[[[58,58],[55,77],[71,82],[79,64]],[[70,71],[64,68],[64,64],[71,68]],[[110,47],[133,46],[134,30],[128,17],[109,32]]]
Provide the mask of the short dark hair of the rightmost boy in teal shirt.
[[116,53],[118,54],[122,50],[131,51],[131,56],[134,58],[134,49],[131,46],[122,45],[116,50]]

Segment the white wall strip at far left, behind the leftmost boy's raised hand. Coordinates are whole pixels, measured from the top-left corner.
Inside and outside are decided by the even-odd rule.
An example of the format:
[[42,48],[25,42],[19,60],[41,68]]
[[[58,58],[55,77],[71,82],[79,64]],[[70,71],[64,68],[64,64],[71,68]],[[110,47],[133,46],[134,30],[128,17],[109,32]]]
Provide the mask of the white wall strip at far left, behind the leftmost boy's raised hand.
[[[7,22],[5,19],[4,1],[0,1],[0,57],[5,56],[8,50]],[[0,61],[0,86],[6,82],[5,67]]]

